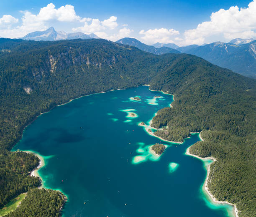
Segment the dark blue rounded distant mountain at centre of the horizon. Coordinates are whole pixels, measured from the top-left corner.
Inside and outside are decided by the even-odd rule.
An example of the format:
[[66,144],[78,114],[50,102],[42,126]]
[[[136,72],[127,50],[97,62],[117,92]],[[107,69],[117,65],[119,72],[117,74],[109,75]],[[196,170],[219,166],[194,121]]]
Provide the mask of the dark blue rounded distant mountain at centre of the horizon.
[[167,47],[155,48],[154,46],[143,44],[135,38],[122,38],[116,41],[115,43],[134,46],[139,48],[140,50],[144,50],[148,53],[154,53],[157,55],[164,54],[164,53],[180,53],[178,50],[175,50],[172,48],[167,48]]

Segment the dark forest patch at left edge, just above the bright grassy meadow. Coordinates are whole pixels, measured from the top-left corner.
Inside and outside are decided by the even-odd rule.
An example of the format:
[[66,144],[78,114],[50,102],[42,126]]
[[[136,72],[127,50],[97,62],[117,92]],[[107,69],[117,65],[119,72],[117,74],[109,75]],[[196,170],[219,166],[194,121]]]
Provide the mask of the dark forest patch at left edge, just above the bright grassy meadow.
[[0,208],[18,194],[40,185],[37,177],[29,176],[38,164],[39,159],[33,154],[0,151]]

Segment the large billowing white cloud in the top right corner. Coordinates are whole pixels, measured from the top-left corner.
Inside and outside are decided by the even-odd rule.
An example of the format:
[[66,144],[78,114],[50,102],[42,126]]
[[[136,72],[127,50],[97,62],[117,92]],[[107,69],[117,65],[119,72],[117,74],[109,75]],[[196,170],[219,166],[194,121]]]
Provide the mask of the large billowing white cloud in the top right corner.
[[184,32],[184,44],[202,44],[214,35],[223,35],[228,40],[256,37],[256,0],[249,3],[248,8],[232,6],[212,13],[210,21]]

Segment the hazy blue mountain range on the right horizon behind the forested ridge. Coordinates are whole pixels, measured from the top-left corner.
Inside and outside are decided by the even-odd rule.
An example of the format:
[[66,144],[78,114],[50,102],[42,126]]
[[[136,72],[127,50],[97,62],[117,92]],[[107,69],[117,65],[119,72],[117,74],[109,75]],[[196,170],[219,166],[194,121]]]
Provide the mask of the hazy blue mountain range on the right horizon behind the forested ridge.
[[[249,43],[247,43],[249,41]],[[232,43],[231,43],[232,42]],[[206,45],[178,47],[175,44],[156,43],[154,46],[141,43],[135,38],[122,38],[116,43],[135,46],[154,54],[187,53],[204,58],[217,66],[228,68],[236,73],[256,78],[256,40],[236,38],[229,43],[214,42]],[[162,46],[165,45],[165,46]],[[162,46],[162,47],[161,47]],[[176,47],[167,48],[166,46]]]

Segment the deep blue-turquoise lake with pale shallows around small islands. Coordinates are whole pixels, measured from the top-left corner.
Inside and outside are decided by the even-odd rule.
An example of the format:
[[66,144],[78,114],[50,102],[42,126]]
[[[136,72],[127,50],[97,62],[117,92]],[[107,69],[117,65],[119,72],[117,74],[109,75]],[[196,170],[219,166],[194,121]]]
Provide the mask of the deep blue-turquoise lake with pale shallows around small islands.
[[[45,157],[39,174],[44,187],[67,195],[65,217],[230,216],[231,206],[202,192],[204,162],[184,154],[198,134],[174,144],[138,126],[171,102],[146,86],[85,96],[39,116],[13,151]],[[148,151],[156,142],[167,145],[160,157]]]

